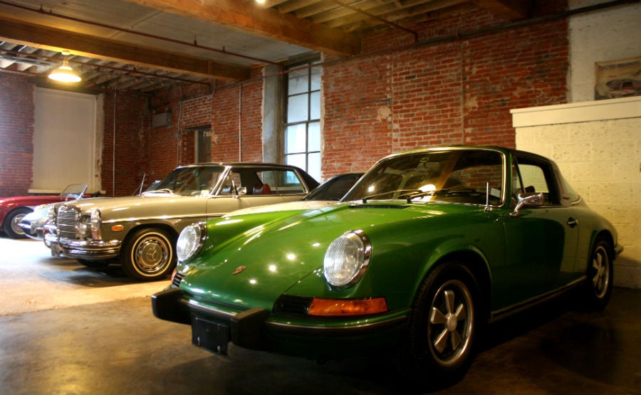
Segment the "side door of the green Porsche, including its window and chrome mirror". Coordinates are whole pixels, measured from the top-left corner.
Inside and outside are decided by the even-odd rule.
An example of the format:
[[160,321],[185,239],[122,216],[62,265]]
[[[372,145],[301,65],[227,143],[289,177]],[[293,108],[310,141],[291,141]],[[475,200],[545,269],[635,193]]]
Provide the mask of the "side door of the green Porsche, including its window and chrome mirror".
[[526,206],[501,214],[505,234],[504,265],[496,270],[495,301],[517,305],[549,293],[568,282],[575,269],[578,221],[573,209],[561,204],[553,167],[531,157],[516,158],[511,166],[511,196],[543,193],[542,206]]

